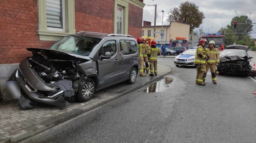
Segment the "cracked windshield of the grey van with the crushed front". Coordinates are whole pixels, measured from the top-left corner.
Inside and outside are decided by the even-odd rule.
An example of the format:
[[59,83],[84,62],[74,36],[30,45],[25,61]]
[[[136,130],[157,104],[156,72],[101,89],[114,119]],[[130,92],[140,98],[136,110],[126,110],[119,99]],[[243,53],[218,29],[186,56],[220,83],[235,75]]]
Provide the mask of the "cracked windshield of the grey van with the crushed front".
[[88,56],[100,40],[91,37],[66,36],[54,43],[49,49]]

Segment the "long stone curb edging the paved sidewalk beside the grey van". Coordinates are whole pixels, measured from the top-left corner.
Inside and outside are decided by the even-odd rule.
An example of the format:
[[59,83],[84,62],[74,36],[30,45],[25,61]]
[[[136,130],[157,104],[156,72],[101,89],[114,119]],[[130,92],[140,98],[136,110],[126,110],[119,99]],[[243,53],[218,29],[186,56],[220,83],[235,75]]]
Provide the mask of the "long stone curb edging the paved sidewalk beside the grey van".
[[32,137],[40,132],[44,132],[54,126],[64,123],[65,121],[75,118],[83,113],[86,113],[93,109],[96,109],[97,107],[107,104],[108,102],[113,101],[116,98],[122,97],[123,95],[126,95],[128,93],[131,93],[132,91],[140,89],[141,87],[144,87],[154,81],[158,81],[170,73],[171,73],[171,68],[170,68],[170,71],[168,71],[162,75],[158,75],[156,78],[149,79],[146,82],[144,82],[143,84],[140,84],[139,86],[134,85],[131,88],[129,88],[128,90],[121,90],[117,93],[114,93],[113,95],[99,99],[98,101],[95,101],[93,103],[87,104],[86,106],[79,107],[72,112],[66,112],[64,114],[61,114],[61,115],[55,117],[55,118],[48,119],[41,123],[35,124],[33,126],[30,126],[29,128],[23,129],[19,132],[15,132],[15,133],[6,135],[5,137],[0,136],[0,143],[18,143],[22,140],[26,140],[29,137]]

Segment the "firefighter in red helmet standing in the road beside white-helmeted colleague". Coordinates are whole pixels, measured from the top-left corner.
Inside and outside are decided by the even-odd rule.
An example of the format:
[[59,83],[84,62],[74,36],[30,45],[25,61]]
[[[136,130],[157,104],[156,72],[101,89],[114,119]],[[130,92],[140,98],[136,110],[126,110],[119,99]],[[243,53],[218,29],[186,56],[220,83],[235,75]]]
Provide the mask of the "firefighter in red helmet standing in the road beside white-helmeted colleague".
[[195,62],[194,64],[197,65],[197,73],[196,73],[196,84],[198,85],[205,85],[204,81],[203,81],[203,76],[204,73],[206,72],[206,67],[205,65],[207,64],[206,60],[207,60],[207,56],[204,50],[204,45],[207,43],[206,39],[201,39],[199,41],[199,45],[198,48],[196,50],[195,53]]

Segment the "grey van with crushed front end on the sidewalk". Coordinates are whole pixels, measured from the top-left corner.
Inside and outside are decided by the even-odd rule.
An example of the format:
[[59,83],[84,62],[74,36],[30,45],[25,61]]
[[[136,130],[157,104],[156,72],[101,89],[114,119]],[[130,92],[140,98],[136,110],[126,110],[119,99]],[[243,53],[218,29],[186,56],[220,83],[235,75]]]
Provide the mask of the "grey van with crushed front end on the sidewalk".
[[138,46],[129,35],[79,32],[48,49],[27,50],[33,56],[20,62],[6,84],[23,109],[32,107],[31,100],[62,109],[75,98],[85,102],[96,90],[137,78]]

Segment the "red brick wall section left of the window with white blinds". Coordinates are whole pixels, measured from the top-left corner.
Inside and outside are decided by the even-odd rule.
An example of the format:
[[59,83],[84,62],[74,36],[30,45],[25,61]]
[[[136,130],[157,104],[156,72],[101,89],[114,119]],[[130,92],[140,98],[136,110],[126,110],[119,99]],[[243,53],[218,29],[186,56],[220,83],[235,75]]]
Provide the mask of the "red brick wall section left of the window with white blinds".
[[36,34],[37,11],[37,0],[0,0],[0,64],[19,63],[31,55],[26,48],[52,44]]

